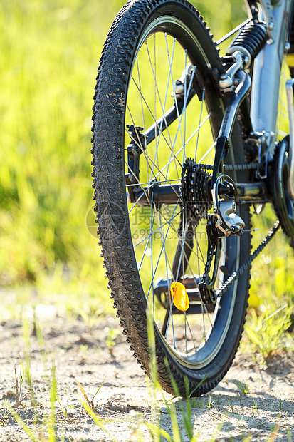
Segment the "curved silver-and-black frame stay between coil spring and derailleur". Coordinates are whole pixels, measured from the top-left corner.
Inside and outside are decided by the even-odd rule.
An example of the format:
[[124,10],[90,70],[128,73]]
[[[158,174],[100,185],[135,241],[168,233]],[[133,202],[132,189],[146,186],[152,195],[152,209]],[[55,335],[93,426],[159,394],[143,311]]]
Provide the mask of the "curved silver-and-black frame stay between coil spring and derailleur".
[[211,185],[216,183],[219,173],[223,173],[222,166],[224,158],[226,158],[228,153],[227,144],[233,130],[233,124],[236,120],[238,108],[241,106],[243,99],[246,97],[251,87],[251,78],[245,71],[240,69],[238,72],[236,72],[235,78],[238,78],[240,81],[237,88],[235,91],[230,91],[225,94],[225,96],[228,95],[229,98],[227,98],[226,111],[221,122],[219,137],[216,140],[216,156],[214,159],[214,170]]

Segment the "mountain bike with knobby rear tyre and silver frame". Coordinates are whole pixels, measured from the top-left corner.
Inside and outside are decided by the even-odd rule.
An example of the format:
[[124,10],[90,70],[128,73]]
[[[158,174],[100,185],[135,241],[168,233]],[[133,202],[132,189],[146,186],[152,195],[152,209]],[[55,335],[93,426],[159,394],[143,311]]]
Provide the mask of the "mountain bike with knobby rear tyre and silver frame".
[[[290,136],[278,118],[293,1],[245,2],[248,19],[214,42],[186,0],[128,1],[98,68],[92,175],[108,287],[147,374],[152,314],[159,382],[182,396],[229,370],[251,262],[280,225],[294,237],[291,80]],[[278,222],[251,252],[250,207],[268,203]]]

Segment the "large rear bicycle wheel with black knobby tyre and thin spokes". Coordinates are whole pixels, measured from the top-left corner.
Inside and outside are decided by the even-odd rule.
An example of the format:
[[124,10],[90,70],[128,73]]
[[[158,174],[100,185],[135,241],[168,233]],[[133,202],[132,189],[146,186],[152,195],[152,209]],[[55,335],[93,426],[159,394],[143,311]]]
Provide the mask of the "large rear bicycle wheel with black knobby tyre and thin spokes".
[[[152,312],[159,381],[173,393],[172,375],[182,396],[189,394],[186,376],[194,395],[222,379],[246,316],[248,269],[214,302],[199,293],[205,272],[218,289],[250,252],[248,233],[224,238],[207,269],[209,164],[225,108],[216,88],[222,72],[191,4],[129,1],[107,36],[94,97],[95,209],[114,306],[147,374],[146,312]],[[243,163],[238,125],[230,146],[226,162]],[[246,179],[244,172],[231,175]],[[250,225],[248,207],[238,213]],[[179,303],[189,299],[189,308],[175,302],[176,282],[186,289]]]

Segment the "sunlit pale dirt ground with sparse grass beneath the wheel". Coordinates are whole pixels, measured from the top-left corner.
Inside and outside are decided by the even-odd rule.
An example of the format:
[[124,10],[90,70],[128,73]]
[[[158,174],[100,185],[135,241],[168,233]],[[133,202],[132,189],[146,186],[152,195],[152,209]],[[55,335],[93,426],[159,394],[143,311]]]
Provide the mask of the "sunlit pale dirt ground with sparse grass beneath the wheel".
[[[25,408],[14,408],[23,420],[21,424],[11,416],[7,406],[13,406],[16,401],[14,364],[18,371],[19,360],[28,367],[28,339],[23,338],[21,322],[8,320],[0,324],[1,441],[33,440],[32,434],[36,441],[48,438],[53,361],[61,403],[55,402],[56,440],[138,441],[140,428],[142,440],[148,441],[152,439],[142,422],[152,423],[156,416],[160,426],[172,434],[167,406],[160,394],[154,401],[145,374],[132,358],[115,318],[105,318],[93,325],[85,324],[82,319],[51,317],[41,322],[41,329],[43,338],[40,334],[35,336],[31,326],[29,330],[29,373],[36,402],[33,405],[27,396],[22,403]],[[75,379],[89,400],[105,379],[93,400],[104,429],[85,411]],[[248,394],[238,389],[234,384],[236,379],[251,387]],[[26,393],[28,382],[24,380],[21,395]],[[172,399],[169,394],[164,397],[167,401]],[[189,441],[180,411],[184,401],[172,401],[177,404],[183,441]],[[293,354],[279,354],[262,367],[252,356],[239,352],[221,384],[210,394],[192,401],[192,416],[199,441],[273,441],[275,437],[278,441],[294,441]],[[24,423],[27,431],[23,429]]]

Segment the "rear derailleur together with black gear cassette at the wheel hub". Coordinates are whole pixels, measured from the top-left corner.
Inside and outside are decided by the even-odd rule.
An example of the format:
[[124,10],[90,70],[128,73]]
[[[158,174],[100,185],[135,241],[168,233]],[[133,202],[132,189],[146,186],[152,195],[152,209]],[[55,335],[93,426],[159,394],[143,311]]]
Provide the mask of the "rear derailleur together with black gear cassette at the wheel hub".
[[[237,214],[240,198],[233,179],[229,175],[219,174],[212,189],[211,181],[212,175],[204,172],[201,165],[194,160],[188,159],[184,163],[181,189],[187,225],[193,231],[202,219],[207,220],[207,258],[204,273],[197,277],[198,295],[206,308],[216,304],[216,279],[219,271],[224,270],[225,273],[224,266],[220,267],[219,262],[221,242],[229,235],[242,235],[245,227],[242,218]],[[182,245],[179,244],[179,249],[182,250]]]

